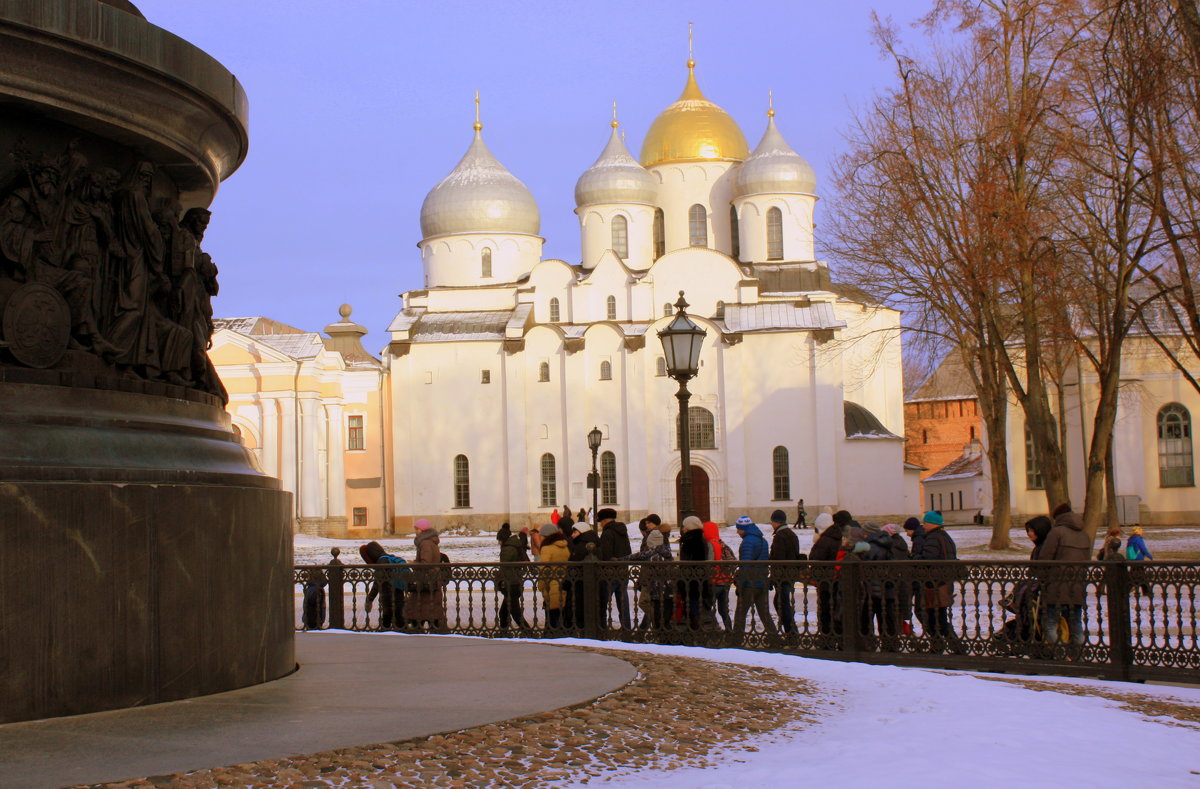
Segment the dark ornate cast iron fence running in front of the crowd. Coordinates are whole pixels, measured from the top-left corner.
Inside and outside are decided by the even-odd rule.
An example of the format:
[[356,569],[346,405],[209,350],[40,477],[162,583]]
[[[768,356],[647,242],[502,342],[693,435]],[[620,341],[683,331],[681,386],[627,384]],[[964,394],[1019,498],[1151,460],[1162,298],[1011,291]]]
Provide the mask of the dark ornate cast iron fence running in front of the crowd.
[[1138,681],[1195,681],[1200,669],[1200,565],[1187,562],[330,564],[296,567],[295,585],[298,630],[569,636]]

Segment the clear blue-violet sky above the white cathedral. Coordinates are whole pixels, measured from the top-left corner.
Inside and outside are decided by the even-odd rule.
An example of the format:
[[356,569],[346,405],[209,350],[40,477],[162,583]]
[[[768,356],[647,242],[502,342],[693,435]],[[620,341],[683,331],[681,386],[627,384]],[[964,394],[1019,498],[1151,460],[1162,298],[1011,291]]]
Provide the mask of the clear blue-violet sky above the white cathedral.
[[[906,26],[931,5],[134,2],[250,95],[250,157],[217,194],[205,239],[221,267],[216,314],[319,331],[349,302],[372,351],[386,344],[398,294],[422,285],[421,201],[470,141],[476,89],[488,146],[538,200],[546,257],[575,263],[575,180],[604,147],[613,100],[637,156],[683,89],[689,20],[708,98],[752,149],[774,90],[780,130],[828,194],[850,112],[892,83],[870,41],[871,10]],[[818,234],[820,222],[818,207]]]

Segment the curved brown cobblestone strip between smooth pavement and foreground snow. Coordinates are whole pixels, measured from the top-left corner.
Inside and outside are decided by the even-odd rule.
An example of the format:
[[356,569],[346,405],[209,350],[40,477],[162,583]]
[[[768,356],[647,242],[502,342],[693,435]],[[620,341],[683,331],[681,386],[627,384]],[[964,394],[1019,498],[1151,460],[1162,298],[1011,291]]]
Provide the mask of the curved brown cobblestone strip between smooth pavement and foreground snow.
[[[643,770],[750,760],[772,734],[814,722],[820,705],[829,704],[808,682],[773,669],[586,651],[629,661],[638,677],[589,704],[450,734],[96,785],[474,789],[600,783]],[[503,671],[496,681],[504,681]]]

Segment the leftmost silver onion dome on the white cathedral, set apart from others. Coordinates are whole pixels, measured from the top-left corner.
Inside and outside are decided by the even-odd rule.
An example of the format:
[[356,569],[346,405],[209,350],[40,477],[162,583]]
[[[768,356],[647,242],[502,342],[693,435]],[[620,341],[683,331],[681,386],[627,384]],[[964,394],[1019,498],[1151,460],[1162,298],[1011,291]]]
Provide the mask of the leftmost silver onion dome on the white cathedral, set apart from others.
[[500,164],[475,130],[462,159],[421,205],[421,236],[451,233],[538,235],[541,219],[528,187]]

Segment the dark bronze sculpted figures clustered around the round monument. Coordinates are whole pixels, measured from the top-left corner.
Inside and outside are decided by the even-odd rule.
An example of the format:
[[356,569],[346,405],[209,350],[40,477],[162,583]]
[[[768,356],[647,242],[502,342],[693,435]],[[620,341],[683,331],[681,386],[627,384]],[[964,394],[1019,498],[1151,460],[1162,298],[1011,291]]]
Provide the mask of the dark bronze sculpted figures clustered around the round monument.
[[122,186],[116,170],[91,168],[76,143],[56,157],[18,145],[11,158],[16,186],[0,193],[8,354],[49,367],[68,348],[89,351],[127,377],[224,399],[205,353],[217,293],[217,269],[200,248],[209,211],[180,219],[173,198],[156,200],[149,162]]

